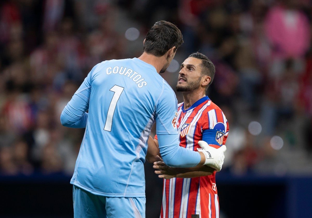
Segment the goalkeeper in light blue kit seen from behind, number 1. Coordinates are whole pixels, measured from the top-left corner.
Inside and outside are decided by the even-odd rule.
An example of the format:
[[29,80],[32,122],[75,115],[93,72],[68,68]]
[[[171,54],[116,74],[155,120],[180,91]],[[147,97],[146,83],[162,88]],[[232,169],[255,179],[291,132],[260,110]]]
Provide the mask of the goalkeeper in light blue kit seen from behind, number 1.
[[159,73],[182,43],[177,26],[156,22],[139,58],[95,65],[62,111],[63,126],[85,128],[71,179],[74,217],[145,217],[143,164],[155,122],[167,165],[220,170],[223,152],[179,146],[177,99]]

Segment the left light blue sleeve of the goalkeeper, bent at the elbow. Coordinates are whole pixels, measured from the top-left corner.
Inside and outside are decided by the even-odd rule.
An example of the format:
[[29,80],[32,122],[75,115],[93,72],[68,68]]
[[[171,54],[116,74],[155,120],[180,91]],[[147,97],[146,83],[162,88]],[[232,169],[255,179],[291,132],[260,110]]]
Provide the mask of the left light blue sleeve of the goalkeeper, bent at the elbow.
[[67,103],[61,113],[61,124],[72,128],[85,128],[87,124],[89,100],[91,93],[92,72],[90,71],[71,100]]

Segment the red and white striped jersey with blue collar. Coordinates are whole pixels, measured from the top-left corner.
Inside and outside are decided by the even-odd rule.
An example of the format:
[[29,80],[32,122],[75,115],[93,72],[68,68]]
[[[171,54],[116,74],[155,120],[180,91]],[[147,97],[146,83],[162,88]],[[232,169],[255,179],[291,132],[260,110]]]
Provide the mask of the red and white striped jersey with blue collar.
[[[199,140],[219,148],[228,135],[228,122],[222,110],[207,96],[188,110],[178,105],[176,125],[180,146],[197,151]],[[161,218],[218,218],[219,200],[214,172],[196,178],[164,179]]]

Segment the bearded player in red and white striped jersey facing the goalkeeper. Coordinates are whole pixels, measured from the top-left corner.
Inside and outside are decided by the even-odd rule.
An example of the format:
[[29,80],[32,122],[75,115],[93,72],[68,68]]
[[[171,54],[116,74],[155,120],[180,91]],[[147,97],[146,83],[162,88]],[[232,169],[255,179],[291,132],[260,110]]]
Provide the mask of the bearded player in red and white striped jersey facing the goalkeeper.
[[[205,141],[214,148],[225,145],[229,126],[222,110],[206,95],[215,68],[201,53],[191,54],[181,65],[177,91],[183,92],[184,102],[178,105],[176,125],[180,146],[190,150],[200,148]],[[157,147],[157,135],[154,138]],[[149,143],[150,147],[150,143]],[[151,146],[151,149],[155,146]],[[155,154],[155,153],[154,153]],[[160,158],[154,163],[159,178],[164,179],[161,218],[218,218],[219,199],[216,171],[207,166],[172,168]]]

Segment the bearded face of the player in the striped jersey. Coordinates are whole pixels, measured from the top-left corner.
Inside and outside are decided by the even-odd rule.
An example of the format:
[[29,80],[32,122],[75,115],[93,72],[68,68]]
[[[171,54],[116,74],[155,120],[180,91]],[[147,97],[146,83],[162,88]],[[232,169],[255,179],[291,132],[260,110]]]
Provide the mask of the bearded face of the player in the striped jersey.
[[201,86],[201,63],[202,60],[193,57],[184,60],[181,64],[176,87],[178,92],[194,91]]

